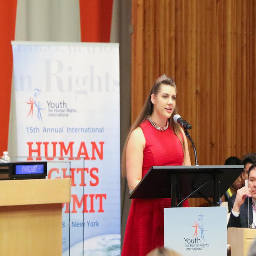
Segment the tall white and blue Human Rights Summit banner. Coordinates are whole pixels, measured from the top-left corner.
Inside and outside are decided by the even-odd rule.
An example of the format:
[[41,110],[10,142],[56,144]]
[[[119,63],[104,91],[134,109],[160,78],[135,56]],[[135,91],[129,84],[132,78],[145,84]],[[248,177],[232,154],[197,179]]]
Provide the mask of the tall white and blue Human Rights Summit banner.
[[[18,157],[71,162],[63,255],[69,253],[67,225],[70,255],[120,255],[119,45],[12,46]],[[68,175],[66,167],[48,172],[48,178]]]

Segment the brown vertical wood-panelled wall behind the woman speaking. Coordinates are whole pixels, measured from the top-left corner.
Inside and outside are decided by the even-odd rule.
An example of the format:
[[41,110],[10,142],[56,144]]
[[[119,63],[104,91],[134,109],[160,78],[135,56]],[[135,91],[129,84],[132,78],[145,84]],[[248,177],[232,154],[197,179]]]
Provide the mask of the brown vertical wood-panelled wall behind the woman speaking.
[[165,73],[200,165],[256,152],[256,1],[133,0],[132,25],[132,121]]

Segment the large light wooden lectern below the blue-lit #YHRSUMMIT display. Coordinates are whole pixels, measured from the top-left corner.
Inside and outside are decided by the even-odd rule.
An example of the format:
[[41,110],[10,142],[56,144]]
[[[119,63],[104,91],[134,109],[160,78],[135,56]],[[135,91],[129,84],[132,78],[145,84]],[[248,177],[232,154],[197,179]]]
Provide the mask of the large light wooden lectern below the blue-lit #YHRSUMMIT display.
[[70,178],[0,181],[0,255],[61,256],[70,200]]

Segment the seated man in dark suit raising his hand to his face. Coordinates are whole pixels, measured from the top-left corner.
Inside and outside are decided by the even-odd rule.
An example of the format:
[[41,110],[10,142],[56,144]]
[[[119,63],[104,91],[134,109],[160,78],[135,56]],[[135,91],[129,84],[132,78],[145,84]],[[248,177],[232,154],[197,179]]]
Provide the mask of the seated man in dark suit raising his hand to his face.
[[[251,227],[256,223],[256,164],[251,165],[248,173],[248,188],[237,190],[234,206],[227,227]],[[253,224],[254,226],[255,224]]]

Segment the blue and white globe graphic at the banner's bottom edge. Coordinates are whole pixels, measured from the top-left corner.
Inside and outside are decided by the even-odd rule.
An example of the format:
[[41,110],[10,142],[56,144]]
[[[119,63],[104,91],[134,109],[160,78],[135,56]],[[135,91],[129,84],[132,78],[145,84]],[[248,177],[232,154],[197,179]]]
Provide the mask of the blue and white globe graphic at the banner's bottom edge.
[[[119,256],[121,255],[120,234],[106,234],[97,237],[91,237],[73,245],[70,248],[70,255],[73,256]],[[69,250],[62,253],[63,256],[69,256]]]

